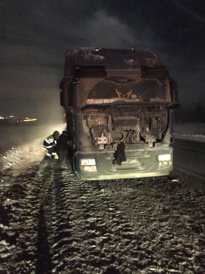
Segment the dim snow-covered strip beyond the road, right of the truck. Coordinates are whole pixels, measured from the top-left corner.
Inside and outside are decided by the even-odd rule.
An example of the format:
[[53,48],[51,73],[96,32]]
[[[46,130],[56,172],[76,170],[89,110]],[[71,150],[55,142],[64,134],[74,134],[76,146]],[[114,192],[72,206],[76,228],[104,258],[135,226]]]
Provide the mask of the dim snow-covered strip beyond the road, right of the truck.
[[174,136],[180,139],[198,140],[205,142],[204,123],[175,124]]

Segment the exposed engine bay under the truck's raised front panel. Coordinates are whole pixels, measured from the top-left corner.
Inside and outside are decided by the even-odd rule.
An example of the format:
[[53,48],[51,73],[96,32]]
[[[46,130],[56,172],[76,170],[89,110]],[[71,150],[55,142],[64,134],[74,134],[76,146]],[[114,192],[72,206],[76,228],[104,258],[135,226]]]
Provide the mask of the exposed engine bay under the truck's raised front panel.
[[104,149],[115,142],[125,144],[161,142],[169,110],[165,106],[112,106],[82,112],[83,129],[93,146]]

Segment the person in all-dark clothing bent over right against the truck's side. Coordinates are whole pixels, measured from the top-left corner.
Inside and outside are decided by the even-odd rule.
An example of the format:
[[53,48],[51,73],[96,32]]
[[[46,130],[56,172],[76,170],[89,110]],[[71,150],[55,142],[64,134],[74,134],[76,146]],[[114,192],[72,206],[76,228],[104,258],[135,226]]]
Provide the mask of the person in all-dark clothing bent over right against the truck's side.
[[61,164],[65,157],[68,155],[68,132],[63,131],[62,134],[59,136],[56,146],[55,146],[55,151],[58,154],[58,162]]

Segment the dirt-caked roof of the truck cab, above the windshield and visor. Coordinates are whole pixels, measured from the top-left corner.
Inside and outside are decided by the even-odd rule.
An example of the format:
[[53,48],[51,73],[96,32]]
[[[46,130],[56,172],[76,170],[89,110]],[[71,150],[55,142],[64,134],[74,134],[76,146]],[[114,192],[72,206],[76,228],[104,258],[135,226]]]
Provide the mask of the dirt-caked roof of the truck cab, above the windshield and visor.
[[158,67],[163,63],[153,51],[135,49],[79,48],[65,52],[65,59],[74,58],[76,66],[104,65],[105,69],[138,69]]

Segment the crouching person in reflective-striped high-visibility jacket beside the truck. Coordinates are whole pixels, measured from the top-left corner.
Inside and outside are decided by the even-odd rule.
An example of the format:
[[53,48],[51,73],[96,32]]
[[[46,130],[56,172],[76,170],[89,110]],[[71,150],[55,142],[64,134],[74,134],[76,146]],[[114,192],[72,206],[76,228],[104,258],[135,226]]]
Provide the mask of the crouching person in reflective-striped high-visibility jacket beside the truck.
[[48,150],[44,160],[50,158],[50,162],[53,163],[56,152],[54,146],[56,146],[56,141],[58,140],[60,133],[56,130],[52,135],[49,135],[43,142],[43,147]]

